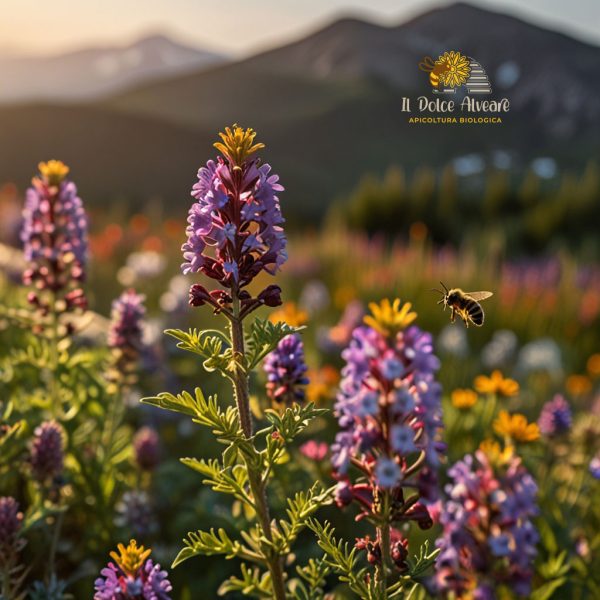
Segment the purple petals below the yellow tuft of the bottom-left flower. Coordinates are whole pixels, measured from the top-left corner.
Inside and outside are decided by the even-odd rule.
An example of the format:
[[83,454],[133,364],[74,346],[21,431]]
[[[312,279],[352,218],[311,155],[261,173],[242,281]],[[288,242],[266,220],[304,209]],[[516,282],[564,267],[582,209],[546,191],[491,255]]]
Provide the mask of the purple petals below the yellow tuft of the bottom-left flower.
[[133,575],[109,562],[96,579],[94,600],[170,600],[173,589],[168,573],[151,558]]

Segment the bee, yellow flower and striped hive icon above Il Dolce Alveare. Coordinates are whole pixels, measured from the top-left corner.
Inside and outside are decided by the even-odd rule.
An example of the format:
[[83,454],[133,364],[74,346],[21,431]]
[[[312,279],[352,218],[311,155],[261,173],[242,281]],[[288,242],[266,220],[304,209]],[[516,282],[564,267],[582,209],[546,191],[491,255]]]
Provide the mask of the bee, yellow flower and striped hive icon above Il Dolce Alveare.
[[437,60],[425,56],[419,69],[429,73],[434,94],[454,94],[461,86],[465,86],[469,94],[492,93],[490,80],[481,64],[456,50],[444,52]]

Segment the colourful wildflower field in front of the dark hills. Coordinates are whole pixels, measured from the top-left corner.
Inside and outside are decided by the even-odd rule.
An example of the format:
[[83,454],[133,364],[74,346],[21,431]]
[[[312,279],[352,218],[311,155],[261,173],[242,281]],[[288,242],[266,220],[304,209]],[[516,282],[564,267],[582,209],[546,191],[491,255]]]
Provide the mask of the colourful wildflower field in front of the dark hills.
[[214,154],[187,221],[0,190],[0,598],[600,598],[596,253],[299,229]]

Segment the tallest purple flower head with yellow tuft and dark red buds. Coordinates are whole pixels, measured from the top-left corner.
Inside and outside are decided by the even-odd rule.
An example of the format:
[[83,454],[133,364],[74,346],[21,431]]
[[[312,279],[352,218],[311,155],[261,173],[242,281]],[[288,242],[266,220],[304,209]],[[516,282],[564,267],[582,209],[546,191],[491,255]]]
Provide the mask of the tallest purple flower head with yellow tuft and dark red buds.
[[[235,295],[262,271],[274,274],[287,259],[277,196],[283,187],[269,165],[250,157],[263,147],[252,146],[254,136],[251,129],[244,131],[236,125],[221,134],[224,144],[215,146],[222,156],[198,171],[192,189],[196,202],[189,211],[187,241],[182,246],[184,273],[204,273]],[[276,287],[265,298],[251,298],[245,292],[245,308],[280,304],[281,290]],[[194,288],[190,296],[193,306],[208,303],[219,311],[232,302],[225,290]]]

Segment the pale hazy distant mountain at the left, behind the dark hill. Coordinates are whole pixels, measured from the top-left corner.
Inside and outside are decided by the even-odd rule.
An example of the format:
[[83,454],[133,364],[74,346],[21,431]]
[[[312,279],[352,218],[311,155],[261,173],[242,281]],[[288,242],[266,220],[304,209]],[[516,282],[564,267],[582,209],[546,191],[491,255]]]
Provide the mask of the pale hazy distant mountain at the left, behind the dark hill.
[[127,46],[86,48],[51,57],[0,52],[0,102],[93,99],[225,60],[163,35]]

